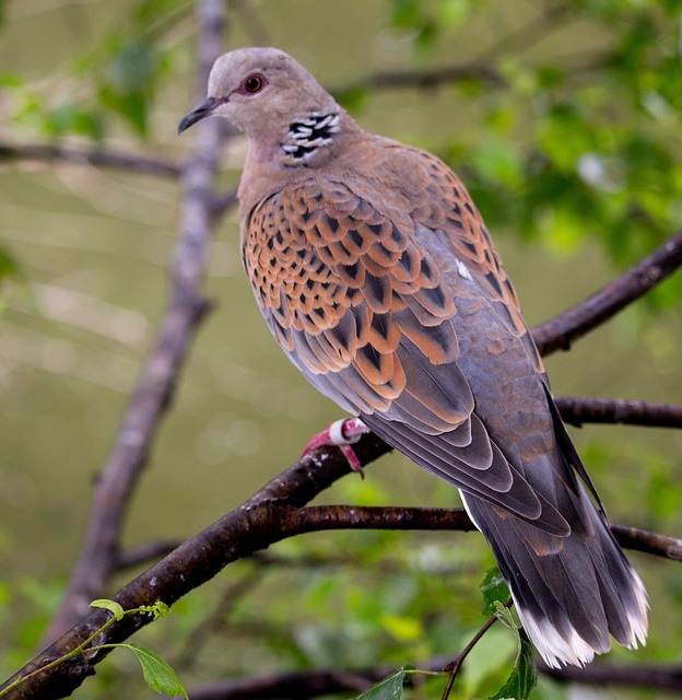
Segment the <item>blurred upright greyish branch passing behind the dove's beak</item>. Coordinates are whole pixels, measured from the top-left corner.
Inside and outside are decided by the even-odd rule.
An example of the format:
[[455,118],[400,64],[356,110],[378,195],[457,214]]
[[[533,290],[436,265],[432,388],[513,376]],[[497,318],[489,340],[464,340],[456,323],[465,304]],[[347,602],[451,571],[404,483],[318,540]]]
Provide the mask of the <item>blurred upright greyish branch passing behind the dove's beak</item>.
[[[208,70],[222,50],[223,2],[204,0],[200,13],[203,31],[199,73],[200,83],[205,84]],[[212,234],[212,188],[221,141],[215,121],[199,125],[197,155],[183,171],[183,231],[172,266],[168,307],[111,454],[97,479],[85,539],[62,605],[47,631],[47,642],[87,614],[90,602],[102,596],[116,570],[130,497],[173,398],[190,341],[209,310],[201,285]]]

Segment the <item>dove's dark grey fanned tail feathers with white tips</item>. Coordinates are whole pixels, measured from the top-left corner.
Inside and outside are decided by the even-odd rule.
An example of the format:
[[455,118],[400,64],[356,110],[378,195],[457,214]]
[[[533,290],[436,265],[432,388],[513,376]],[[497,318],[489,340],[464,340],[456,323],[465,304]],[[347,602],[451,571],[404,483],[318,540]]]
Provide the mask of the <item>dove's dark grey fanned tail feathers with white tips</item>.
[[587,522],[567,537],[549,535],[480,498],[462,498],[549,666],[583,666],[610,650],[610,635],[631,649],[646,643],[646,591],[583,485],[574,498]]

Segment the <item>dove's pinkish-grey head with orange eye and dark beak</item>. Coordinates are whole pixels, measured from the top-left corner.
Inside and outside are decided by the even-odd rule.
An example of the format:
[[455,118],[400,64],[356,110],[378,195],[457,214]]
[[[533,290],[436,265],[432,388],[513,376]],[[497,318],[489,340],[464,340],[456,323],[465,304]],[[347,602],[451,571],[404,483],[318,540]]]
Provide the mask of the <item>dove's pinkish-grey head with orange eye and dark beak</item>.
[[282,141],[282,131],[292,122],[341,112],[315,78],[284,51],[242,48],[215,61],[207,100],[180,121],[178,132],[215,115],[251,139]]

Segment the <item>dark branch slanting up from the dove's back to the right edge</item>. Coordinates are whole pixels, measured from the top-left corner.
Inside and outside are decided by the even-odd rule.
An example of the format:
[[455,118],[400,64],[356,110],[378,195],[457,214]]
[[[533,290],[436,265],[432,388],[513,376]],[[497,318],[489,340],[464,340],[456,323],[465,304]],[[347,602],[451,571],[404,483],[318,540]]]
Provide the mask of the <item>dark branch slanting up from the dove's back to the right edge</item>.
[[571,343],[615,316],[682,266],[682,231],[646,258],[573,308],[532,330],[540,353],[568,350]]

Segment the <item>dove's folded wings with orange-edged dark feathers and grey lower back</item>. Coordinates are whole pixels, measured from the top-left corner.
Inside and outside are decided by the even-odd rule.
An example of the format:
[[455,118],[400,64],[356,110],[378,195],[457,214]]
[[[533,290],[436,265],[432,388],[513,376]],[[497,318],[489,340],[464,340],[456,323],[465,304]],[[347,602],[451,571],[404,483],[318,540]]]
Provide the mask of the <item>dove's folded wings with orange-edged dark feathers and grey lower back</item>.
[[[442,167],[445,186],[459,185]],[[553,490],[529,483],[537,478],[522,454],[551,448],[528,436],[538,432],[533,412],[540,442],[553,435],[542,365],[487,233],[458,191],[450,220],[435,221],[409,198],[310,178],[255,208],[244,262],[274,336],[319,390],[443,479],[566,535]],[[508,438],[505,417],[516,424]]]

